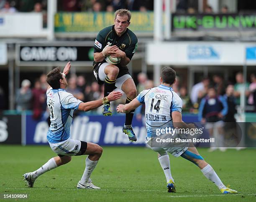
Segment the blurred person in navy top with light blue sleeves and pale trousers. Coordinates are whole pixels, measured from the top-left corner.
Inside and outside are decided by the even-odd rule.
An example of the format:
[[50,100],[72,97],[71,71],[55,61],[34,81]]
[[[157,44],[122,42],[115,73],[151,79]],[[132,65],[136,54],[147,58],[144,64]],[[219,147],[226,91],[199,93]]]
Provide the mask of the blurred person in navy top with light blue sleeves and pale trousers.
[[222,96],[218,96],[213,87],[210,87],[207,96],[201,100],[198,120],[205,124],[205,129],[209,131],[210,137],[215,138],[213,143],[210,143],[210,151],[220,149],[225,151],[224,146],[224,131],[223,117],[228,113],[228,105]]

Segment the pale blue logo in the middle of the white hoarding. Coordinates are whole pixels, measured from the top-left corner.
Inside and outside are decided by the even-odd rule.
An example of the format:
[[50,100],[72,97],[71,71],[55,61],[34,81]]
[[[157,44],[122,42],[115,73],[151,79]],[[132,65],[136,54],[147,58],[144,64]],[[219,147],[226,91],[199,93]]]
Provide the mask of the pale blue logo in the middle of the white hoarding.
[[187,58],[189,60],[219,60],[220,50],[212,45],[187,46]]

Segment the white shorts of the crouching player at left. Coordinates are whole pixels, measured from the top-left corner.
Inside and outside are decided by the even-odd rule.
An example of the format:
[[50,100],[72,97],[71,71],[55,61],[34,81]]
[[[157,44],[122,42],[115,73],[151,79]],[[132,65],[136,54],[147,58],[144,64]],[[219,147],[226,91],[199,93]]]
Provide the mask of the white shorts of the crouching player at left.
[[77,156],[80,155],[79,151],[81,149],[81,141],[72,140],[68,138],[65,141],[58,143],[50,143],[51,150],[56,154],[60,154],[63,156]]

